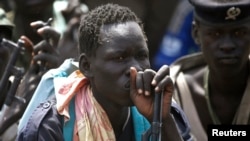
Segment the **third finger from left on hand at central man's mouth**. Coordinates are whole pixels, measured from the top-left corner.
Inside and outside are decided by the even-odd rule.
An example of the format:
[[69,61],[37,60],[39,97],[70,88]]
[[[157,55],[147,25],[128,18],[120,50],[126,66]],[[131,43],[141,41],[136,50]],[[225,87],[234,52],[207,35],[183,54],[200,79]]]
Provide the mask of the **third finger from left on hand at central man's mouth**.
[[151,69],[146,69],[143,73],[143,88],[146,96],[151,95],[151,89],[152,89],[151,82],[154,75],[155,72]]

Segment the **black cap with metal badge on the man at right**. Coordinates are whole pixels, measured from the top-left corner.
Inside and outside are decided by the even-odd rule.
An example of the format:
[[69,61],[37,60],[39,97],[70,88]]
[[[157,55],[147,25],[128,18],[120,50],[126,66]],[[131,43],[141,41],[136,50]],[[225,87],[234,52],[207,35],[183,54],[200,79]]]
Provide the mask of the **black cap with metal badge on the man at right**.
[[195,18],[206,24],[234,24],[250,19],[250,0],[189,0]]

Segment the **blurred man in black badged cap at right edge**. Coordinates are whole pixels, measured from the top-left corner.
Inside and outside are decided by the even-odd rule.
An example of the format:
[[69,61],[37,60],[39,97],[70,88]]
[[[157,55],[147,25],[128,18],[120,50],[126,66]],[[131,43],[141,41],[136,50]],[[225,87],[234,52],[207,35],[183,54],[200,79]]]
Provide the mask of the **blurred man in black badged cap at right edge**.
[[189,2],[194,7],[191,33],[201,52],[177,59],[170,74],[191,133],[207,141],[208,125],[250,124],[250,1]]

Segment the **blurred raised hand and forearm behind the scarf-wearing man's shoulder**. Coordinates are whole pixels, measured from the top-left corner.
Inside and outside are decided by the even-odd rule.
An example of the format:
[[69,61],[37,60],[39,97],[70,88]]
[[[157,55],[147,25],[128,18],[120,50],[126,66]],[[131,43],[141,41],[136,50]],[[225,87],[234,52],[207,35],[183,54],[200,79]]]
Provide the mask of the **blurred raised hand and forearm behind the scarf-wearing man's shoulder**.
[[44,39],[39,43],[34,45],[28,37],[20,37],[25,41],[26,49],[30,51],[32,60],[30,60],[30,67],[24,75],[23,83],[20,84],[16,95],[24,97],[28,102],[42,75],[49,69],[56,68],[59,65],[59,54],[56,47],[60,34],[52,27],[44,26],[44,24],[43,21],[31,23],[31,27],[37,29],[38,35]]

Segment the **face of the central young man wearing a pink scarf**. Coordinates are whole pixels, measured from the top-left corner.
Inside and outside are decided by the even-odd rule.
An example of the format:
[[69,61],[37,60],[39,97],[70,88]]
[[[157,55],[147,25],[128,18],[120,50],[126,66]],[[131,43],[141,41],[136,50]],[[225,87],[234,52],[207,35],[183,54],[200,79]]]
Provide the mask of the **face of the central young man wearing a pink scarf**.
[[130,67],[150,68],[146,39],[135,22],[105,25],[100,31],[102,45],[90,59],[92,88],[97,100],[131,105]]

